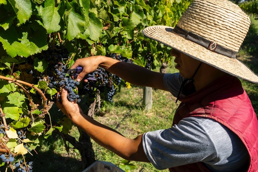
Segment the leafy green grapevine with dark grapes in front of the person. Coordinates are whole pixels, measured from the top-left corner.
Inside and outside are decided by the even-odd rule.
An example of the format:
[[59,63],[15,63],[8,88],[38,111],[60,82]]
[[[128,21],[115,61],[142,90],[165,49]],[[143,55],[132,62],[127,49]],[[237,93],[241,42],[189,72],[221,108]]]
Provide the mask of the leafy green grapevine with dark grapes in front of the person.
[[[148,65],[154,67],[168,49],[145,40],[141,30],[154,23],[174,26],[190,1],[2,1],[0,155],[4,161],[0,167],[32,171],[24,156],[37,154],[37,141],[47,139],[53,131],[80,150],[84,167],[93,163],[89,137],[80,133],[83,137],[77,142],[64,130],[71,130],[69,119],[63,115],[51,120],[55,114],[50,109],[56,108],[57,92],[66,89],[69,101],[83,104],[94,114],[95,108],[113,102],[125,81],[99,68],[88,75],[93,80],[79,83],[66,70],[75,60],[93,55],[124,62],[133,59],[144,67],[146,60],[141,57],[149,50],[156,63]],[[164,7],[171,10],[153,15]]]

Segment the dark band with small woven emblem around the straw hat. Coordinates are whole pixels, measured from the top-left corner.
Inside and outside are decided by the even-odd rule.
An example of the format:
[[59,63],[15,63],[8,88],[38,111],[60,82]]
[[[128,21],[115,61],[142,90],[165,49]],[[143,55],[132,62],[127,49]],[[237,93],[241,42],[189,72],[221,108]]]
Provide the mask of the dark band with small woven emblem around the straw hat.
[[195,42],[213,52],[217,52],[219,54],[222,54],[222,55],[230,57],[230,58],[236,58],[236,54],[237,54],[236,51],[229,50],[221,45],[216,44],[213,41],[207,40],[201,36],[198,36],[196,34],[188,32],[187,30],[179,28],[178,26],[175,26],[175,28],[173,30],[167,28],[166,31],[168,31],[168,32],[173,31],[176,34],[185,37],[187,40]]

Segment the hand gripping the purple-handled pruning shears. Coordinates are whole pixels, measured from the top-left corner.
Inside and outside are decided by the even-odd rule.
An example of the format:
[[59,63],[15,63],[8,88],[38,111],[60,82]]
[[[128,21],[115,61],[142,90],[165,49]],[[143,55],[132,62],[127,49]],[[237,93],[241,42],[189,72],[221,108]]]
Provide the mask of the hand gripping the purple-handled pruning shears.
[[71,69],[76,68],[78,66],[83,68],[83,71],[79,73],[77,76],[77,81],[84,80],[87,82],[87,79],[83,79],[85,75],[88,73],[91,73],[97,69],[99,64],[101,63],[101,57],[102,56],[90,56],[85,58],[80,58],[75,61],[75,63],[71,66]]

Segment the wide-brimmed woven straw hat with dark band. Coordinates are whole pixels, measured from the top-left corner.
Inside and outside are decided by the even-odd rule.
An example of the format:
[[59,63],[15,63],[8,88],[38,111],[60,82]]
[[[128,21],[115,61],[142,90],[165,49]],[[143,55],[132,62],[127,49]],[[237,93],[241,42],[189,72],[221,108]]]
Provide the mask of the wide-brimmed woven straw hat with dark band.
[[227,0],[195,0],[175,28],[150,26],[142,33],[233,76],[258,83],[258,76],[236,59],[250,26],[249,17]]

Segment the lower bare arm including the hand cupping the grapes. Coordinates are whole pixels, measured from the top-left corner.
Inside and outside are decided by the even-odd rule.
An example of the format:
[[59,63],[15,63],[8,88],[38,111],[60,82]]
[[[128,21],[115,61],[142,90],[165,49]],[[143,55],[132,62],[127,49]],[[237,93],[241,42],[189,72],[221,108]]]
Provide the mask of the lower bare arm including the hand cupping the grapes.
[[99,145],[111,150],[124,159],[149,162],[143,150],[142,135],[134,139],[126,138],[116,130],[86,116],[78,104],[67,100],[67,91],[65,89],[61,93],[61,99],[62,103],[57,101],[57,106],[60,110]]

